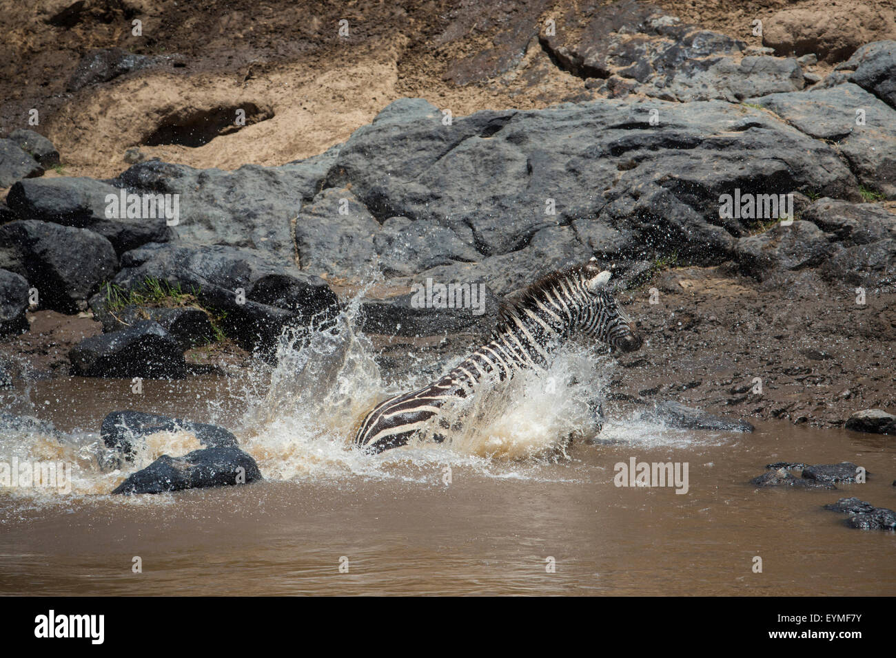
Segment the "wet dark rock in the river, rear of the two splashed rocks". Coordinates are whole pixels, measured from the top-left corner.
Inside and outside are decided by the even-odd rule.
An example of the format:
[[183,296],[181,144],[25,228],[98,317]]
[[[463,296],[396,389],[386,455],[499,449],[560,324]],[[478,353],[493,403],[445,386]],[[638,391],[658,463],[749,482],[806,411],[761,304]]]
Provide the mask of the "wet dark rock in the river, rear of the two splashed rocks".
[[192,432],[203,446],[211,448],[237,448],[237,437],[232,432],[208,423],[172,418],[141,411],[114,411],[102,423],[100,436],[109,449],[115,450],[125,461],[134,459],[136,441],[156,432]]

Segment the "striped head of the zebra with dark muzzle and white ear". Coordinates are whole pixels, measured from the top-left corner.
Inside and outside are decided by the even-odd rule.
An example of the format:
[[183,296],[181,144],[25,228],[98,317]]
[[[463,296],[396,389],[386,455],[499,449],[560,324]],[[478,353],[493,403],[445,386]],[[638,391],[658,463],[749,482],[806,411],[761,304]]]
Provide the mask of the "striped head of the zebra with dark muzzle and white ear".
[[642,338],[635,332],[635,325],[616,301],[608,286],[610,272],[600,270],[591,259],[582,268],[582,284],[586,293],[582,312],[582,331],[590,337],[607,343],[613,350],[634,352],[642,346]]

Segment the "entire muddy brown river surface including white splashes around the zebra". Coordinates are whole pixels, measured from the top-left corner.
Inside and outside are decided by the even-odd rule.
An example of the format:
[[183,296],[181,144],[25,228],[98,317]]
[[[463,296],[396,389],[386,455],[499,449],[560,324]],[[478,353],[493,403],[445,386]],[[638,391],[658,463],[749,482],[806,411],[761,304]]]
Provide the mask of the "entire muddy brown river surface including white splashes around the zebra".
[[[896,537],[822,508],[846,496],[896,508],[892,437],[790,423],[685,432],[609,406],[600,443],[566,445],[582,392],[613,371],[573,351],[549,386],[512,382],[446,444],[350,449],[366,408],[425,380],[418,370],[384,381],[366,338],[331,335],[302,350],[284,340],[258,375],[146,380],[139,395],[130,380],[79,378],[5,393],[4,407],[65,435],[7,429],[0,461],[73,470],[70,492],[0,488],[0,594],[896,594]],[[232,429],[265,480],[108,495],[159,454],[198,447],[167,432],[130,470],[102,470],[99,423],[123,408]],[[616,486],[632,458],[686,465],[686,491]],[[869,476],[840,491],[749,484],[775,461],[852,461]]]

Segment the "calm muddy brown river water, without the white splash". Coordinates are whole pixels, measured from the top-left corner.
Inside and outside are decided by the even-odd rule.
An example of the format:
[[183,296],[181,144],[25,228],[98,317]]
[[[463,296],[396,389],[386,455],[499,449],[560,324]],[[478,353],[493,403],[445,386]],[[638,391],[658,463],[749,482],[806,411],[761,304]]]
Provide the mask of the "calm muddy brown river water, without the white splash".
[[[226,401],[233,386],[153,383],[139,408],[181,415],[210,396]],[[128,387],[48,380],[25,397],[59,429],[97,430],[109,411],[134,406]],[[130,499],[0,497],[0,594],[896,594],[896,536],[850,529],[822,508],[845,496],[896,508],[892,437],[610,420],[604,434],[616,443],[449,462],[449,484],[444,463],[409,458],[388,477],[333,469]],[[631,457],[686,462],[689,491],[616,487],[615,465]],[[868,482],[839,491],[748,483],[779,460],[853,461]]]

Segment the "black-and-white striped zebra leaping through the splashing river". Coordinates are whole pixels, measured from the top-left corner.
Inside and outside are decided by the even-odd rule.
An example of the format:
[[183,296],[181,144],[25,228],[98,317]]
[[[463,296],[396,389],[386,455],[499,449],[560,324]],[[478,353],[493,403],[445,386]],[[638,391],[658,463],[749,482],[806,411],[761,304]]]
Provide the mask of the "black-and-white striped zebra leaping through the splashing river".
[[551,353],[575,335],[596,338],[613,351],[639,349],[642,338],[610,293],[609,279],[610,272],[601,271],[594,258],[539,279],[502,307],[486,345],[441,379],[375,406],[358,425],[354,444],[372,454],[406,445],[415,432],[431,426],[448,400],[472,395],[495,374],[503,381],[518,370],[546,370]]

